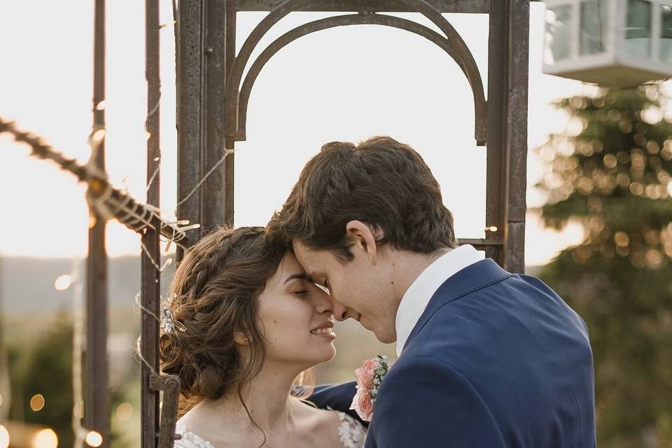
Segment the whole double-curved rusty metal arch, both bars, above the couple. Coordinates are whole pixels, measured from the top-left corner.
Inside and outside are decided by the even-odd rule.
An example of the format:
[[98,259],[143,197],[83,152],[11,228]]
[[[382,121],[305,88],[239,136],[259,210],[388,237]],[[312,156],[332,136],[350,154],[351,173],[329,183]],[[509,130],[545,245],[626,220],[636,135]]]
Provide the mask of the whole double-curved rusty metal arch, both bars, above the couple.
[[[413,10],[416,13],[421,13],[423,16],[425,16],[431,22],[433,22],[445,34],[445,42],[448,44],[451,51],[448,51],[446,48],[440,45],[440,43],[437,42],[438,40],[437,38],[441,38],[441,36],[440,34],[435,33],[435,31],[423,27],[422,25],[416,24],[411,20],[405,20],[405,19],[389,20],[389,21],[381,19],[381,22],[377,22],[376,18],[391,18],[391,19],[396,18],[393,18],[392,16],[374,14],[372,13],[372,11],[367,9],[366,4],[363,4],[362,6],[360,6],[360,10],[363,10],[363,13],[360,13],[361,16],[360,21],[354,22],[355,18],[358,15],[346,15],[309,22],[305,25],[293,29],[292,31],[289,31],[288,33],[284,34],[276,41],[274,41],[271,45],[269,45],[268,48],[277,48],[277,49],[274,52],[271,52],[269,55],[267,55],[267,58],[269,59],[270,57],[272,57],[275,52],[277,52],[278,50],[280,50],[282,46],[284,46],[284,45],[281,46],[276,45],[276,43],[278,41],[283,41],[284,39],[289,38],[288,35],[293,36],[293,34],[297,34],[296,37],[290,38],[290,40],[287,42],[290,43],[291,41],[305,34],[310,34],[311,32],[319,31],[321,29],[328,29],[331,27],[337,27],[342,25],[364,25],[364,24],[386,25],[391,27],[398,27],[400,29],[405,29],[406,31],[411,31],[414,34],[424,36],[433,43],[436,43],[444,50],[446,50],[448,54],[455,60],[455,62],[457,62],[458,66],[460,66],[463,73],[465,73],[465,76],[468,78],[469,83],[472,87],[472,91],[474,93],[474,101],[475,101],[475,108],[474,108],[476,115],[475,132],[474,132],[475,139],[477,141],[477,144],[479,144],[480,146],[484,145],[486,142],[487,130],[486,130],[486,103],[483,94],[483,83],[480,77],[480,73],[478,71],[476,61],[473,55],[471,54],[471,51],[469,50],[468,46],[464,43],[462,37],[454,29],[454,27],[450,25],[450,22],[448,22],[437,9],[435,9],[426,1],[424,0],[395,0],[395,1],[397,3],[402,4],[403,6],[406,6],[407,8]],[[257,46],[261,38],[265,36],[265,34],[269,31],[269,29],[273,27],[273,25],[275,25],[277,22],[279,22],[282,18],[284,18],[293,10],[297,10],[297,8],[301,8],[302,6],[305,6],[309,3],[311,3],[310,0],[287,0],[281,3],[280,6],[272,10],[269,13],[269,15],[267,15],[265,18],[261,20],[261,22],[258,23],[258,25],[253,29],[251,34],[244,42],[238,55],[235,57],[235,62],[233,63],[233,67],[228,76],[226,85],[226,96],[225,96],[224,113],[225,113],[225,119],[227,120],[226,137],[228,148],[232,148],[234,145],[233,141],[231,141],[232,139],[237,140],[240,137],[238,134],[238,127],[240,123],[239,115],[241,113],[241,109],[239,107],[239,87],[241,78],[243,76],[243,72],[245,70],[245,67],[247,66],[247,63],[251,57],[254,48]],[[326,24],[330,23],[330,20],[333,20],[334,25],[326,26]],[[320,25],[323,25],[324,27],[321,28]],[[316,29],[314,29],[314,31],[309,31],[313,27],[315,27]],[[429,31],[429,33],[421,31],[421,29],[426,29],[427,31]],[[429,34],[432,37],[429,37],[426,34]],[[261,57],[262,56],[260,55],[259,58]],[[482,102],[480,102],[480,99],[482,99]],[[243,118],[242,121],[243,123],[245,123],[246,119]],[[235,131],[233,130],[234,127],[236,127]],[[244,127],[242,129],[243,129],[242,135],[244,135],[245,133]]]

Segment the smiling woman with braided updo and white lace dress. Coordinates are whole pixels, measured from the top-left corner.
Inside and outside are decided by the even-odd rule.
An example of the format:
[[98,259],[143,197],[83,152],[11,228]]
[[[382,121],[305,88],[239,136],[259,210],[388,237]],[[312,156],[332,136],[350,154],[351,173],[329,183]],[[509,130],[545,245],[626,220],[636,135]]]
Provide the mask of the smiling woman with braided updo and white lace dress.
[[364,446],[358,421],[305,400],[306,371],[335,355],[332,304],[263,228],[203,237],[170,294],[160,358],[181,381],[176,448]]

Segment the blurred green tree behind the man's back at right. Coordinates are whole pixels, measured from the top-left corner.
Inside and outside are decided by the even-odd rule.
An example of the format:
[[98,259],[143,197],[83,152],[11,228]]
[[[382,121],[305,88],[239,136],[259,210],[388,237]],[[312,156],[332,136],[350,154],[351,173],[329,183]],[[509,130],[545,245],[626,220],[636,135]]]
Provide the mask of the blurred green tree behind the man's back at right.
[[565,134],[549,162],[546,225],[578,221],[584,241],[540,276],[587,322],[598,444],[672,447],[672,123],[657,85],[600,90],[557,106]]

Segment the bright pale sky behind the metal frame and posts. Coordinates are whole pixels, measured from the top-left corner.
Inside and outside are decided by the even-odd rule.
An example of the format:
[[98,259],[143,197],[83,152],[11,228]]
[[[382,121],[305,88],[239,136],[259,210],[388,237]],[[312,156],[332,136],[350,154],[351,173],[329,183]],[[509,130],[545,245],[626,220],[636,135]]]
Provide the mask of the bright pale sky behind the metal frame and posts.
[[[5,2],[0,7],[0,115],[41,134],[71,157],[87,160],[91,126],[92,3],[78,7],[48,0]],[[162,22],[171,3],[162,0]],[[146,80],[144,3],[108,2],[106,121],[111,180],[145,197]],[[567,120],[549,102],[587,89],[541,73],[543,4],[531,5],[529,144],[562,131]],[[239,14],[238,45],[265,13]],[[265,38],[255,55],[283,32],[325,15],[293,13]],[[427,20],[412,15],[423,24]],[[447,14],[475,56],[487,85],[486,15]],[[162,209],[176,203],[176,132],[172,26],[162,38]],[[253,55],[254,57],[254,55]],[[342,27],[288,45],[260,74],[248,111],[248,141],[237,144],[236,225],[264,225],[279,207],[305,162],[321,144],[389,134],[411,144],[440,181],[444,202],[456,218],[458,237],[482,237],[485,149],[473,139],[468,83],[454,61],[429,41],[398,29]],[[49,162],[0,137],[0,253],[83,256],[87,209],[84,187]],[[528,185],[542,165],[530,151]],[[528,204],[543,198],[528,188]],[[526,262],[549,260],[581,239],[577,225],[561,234],[543,230],[528,216]],[[139,238],[109,225],[112,256],[139,252]]]

